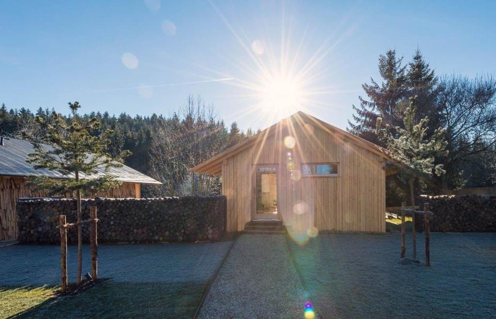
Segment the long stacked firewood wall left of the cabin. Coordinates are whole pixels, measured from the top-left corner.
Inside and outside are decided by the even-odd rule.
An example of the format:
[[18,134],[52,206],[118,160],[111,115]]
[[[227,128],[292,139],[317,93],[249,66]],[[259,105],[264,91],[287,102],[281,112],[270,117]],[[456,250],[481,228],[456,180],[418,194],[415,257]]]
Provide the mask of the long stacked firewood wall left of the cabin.
[[[100,242],[181,242],[219,240],[225,232],[225,196],[167,198],[83,199],[82,219],[90,206],[98,209]],[[59,243],[59,216],[76,220],[75,199],[39,199],[17,203],[21,243]],[[89,226],[83,224],[83,241]],[[77,242],[77,232],[67,232],[68,243]]]

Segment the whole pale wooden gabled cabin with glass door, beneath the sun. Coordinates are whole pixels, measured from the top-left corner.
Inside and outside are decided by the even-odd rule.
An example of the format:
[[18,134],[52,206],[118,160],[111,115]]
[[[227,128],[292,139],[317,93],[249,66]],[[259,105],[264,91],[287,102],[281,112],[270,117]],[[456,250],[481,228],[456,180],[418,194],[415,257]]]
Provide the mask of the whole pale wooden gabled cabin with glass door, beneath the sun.
[[295,232],[385,231],[387,156],[304,112],[195,166],[220,175],[227,230],[276,219]]

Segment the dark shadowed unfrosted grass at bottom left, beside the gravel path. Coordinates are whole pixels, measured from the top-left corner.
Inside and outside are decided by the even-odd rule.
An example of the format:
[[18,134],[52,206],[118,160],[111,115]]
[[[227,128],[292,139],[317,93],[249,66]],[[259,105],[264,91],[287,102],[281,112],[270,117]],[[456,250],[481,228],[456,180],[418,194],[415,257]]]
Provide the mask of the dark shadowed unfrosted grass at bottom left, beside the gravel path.
[[76,296],[47,299],[10,318],[192,318],[207,284],[109,280]]

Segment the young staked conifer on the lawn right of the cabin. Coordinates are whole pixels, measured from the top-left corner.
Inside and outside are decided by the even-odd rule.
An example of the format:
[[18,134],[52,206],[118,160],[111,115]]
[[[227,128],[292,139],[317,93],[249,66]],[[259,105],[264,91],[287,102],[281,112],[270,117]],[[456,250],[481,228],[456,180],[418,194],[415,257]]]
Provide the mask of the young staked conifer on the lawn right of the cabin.
[[[444,140],[444,129],[436,128],[427,139],[429,128],[427,117],[416,120],[416,98],[410,98],[410,106],[403,117],[404,128],[396,127],[394,134],[391,127],[381,127],[382,119],[377,118],[376,134],[384,142],[386,153],[391,158],[399,174],[402,174],[410,184],[410,200],[412,209],[415,207],[414,182],[416,179],[429,179],[433,173],[440,176],[444,173],[442,165],[434,165],[436,156],[443,153],[447,142]],[[412,214],[413,259],[417,258],[417,243],[415,233],[415,214]]]

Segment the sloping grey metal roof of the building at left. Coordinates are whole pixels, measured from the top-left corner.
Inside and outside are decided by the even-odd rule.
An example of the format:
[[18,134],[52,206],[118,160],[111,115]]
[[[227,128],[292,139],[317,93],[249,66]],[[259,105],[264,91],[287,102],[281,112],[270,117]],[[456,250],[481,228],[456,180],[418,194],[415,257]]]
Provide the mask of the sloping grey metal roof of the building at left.
[[[0,145],[0,176],[47,176],[51,178],[72,178],[73,176],[64,176],[57,171],[47,169],[35,169],[34,165],[26,163],[26,158],[29,153],[33,151],[33,145],[24,140],[10,138],[3,141],[4,145]],[[43,145],[47,150],[52,146]],[[162,184],[149,176],[141,174],[140,172],[123,165],[119,168],[111,168],[107,172],[103,168],[97,169],[96,176],[89,176],[87,178],[94,178],[105,174],[114,176],[118,181],[128,183],[141,183],[141,184]],[[84,178],[84,176],[83,176]]]

